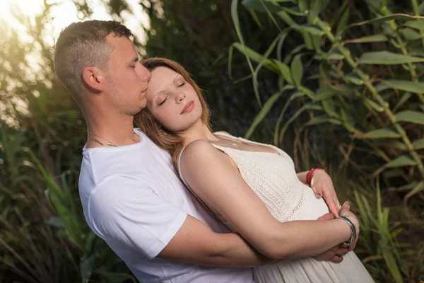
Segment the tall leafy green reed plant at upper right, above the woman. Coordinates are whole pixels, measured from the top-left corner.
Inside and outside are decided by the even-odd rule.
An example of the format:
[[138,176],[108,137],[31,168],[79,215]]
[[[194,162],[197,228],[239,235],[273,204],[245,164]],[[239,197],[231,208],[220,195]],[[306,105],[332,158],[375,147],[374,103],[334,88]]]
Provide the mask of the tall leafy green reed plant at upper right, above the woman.
[[[273,142],[281,145],[293,121],[305,121],[308,112],[310,118],[300,129],[333,125],[347,134],[345,141],[355,141],[353,152],[367,149],[366,160],[363,154],[351,158],[359,156],[355,161],[371,177],[383,173],[384,180],[391,178],[396,187],[408,184],[408,197],[422,191],[424,17],[419,14],[424,5],[411,1],[414,13],[409,15],[392,13],[386,1],[366,0],[374,18],[350,23],[347,0],[330,21],[320,17],[329,1],[244,0],[242,6],[255,18],[259,19],[258,12],[264,13],[281,30],[269,49],[259,54],[245,45],[238,2],[232,1],[232,18],[240,41],[230,47],[230,57],[235,49],[245,54],[261,105],[245,136],[252,135],[271,109],[279,108]],[[360,34],[363,30],[370,33]],[[302,40],[284,52],[288,37]],[[278,75],[278,91],[264,102],[257,83],[263,68]],[[277,103],[281,97],[286,98],[283,105]],[[295,101],[302,106],[287,117]],[[369,158],[372,166],[367,164]]]

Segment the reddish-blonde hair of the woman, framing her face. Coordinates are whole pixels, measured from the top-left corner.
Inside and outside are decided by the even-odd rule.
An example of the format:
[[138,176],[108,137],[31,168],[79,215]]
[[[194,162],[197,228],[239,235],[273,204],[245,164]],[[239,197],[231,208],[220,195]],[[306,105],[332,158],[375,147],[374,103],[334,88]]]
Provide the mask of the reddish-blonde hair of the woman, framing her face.
[[[196,82],[193,81],[192,76],[188,71],[186,71],[186,69],[184,69],[184,67],[170,59],[159,57],[145,59],[143,62],[141,62],[141,64],[143,64],[143,66],[146,67],[149,71],[153,71],[158,67],[167,67],[173,71],[176,71],[184,78],[185,81],[187,81],[187,83],[191,84],[196,91],[197,96],[199,96],[202,109],[200,119],[209,129],[211,129],[211,112],[209,111],[208,105],[204,98],[203,91],[201,91],[201,88],[199,88]],[[170,132],[168,129],[161,127],[159,122],[155,120],[147,108],[144,108],[134,116],[134,122],[136,122],[136,125],[139,126],[140,129],[143,130],[143,132],[155,142],[155,144],[158,144],[158,146],[170,153],[175,169],[178,171],[178,157],[179,153],[183,149],[183,139],[179,137],[178,134]]]

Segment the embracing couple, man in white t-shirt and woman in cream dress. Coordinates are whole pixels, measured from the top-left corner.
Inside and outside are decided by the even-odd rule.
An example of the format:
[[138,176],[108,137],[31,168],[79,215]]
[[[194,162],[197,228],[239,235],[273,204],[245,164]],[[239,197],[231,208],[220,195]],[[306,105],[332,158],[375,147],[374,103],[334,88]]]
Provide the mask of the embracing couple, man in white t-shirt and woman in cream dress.
[[[72,23],[54,67],[88,129],[86,221],[140,282],[373,282],[359,222],[323,170],[212,132],[200,88],[168,59],[139,62],[114,21]],[[134,129],[133,125],[139,128]]]

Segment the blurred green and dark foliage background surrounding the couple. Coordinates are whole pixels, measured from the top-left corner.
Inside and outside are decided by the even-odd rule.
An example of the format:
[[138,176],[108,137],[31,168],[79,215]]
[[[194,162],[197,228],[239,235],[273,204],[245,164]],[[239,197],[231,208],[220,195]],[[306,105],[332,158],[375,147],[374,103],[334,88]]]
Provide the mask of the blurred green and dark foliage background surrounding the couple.
[[[124,21],[129,2],[102,4]],[[424,279],[424,3],[135,2],[150,20],[140,53],[193,74],[214,129],[276,144],[299,171],[326,168],[376,282]],[[0,282],[136,282],[83,219],[86,125],[54,76],[54,6],[13,14],[25,36],[0,25]]]

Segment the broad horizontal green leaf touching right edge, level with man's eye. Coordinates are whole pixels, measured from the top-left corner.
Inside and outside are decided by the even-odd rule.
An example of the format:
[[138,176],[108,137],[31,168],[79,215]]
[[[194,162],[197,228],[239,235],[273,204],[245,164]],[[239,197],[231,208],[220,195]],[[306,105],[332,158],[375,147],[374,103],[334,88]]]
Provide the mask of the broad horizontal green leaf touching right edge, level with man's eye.
[[359,64],[406,64],[424,62],[424,58],[413,57],[388,51],[366,52],[358,60]]

